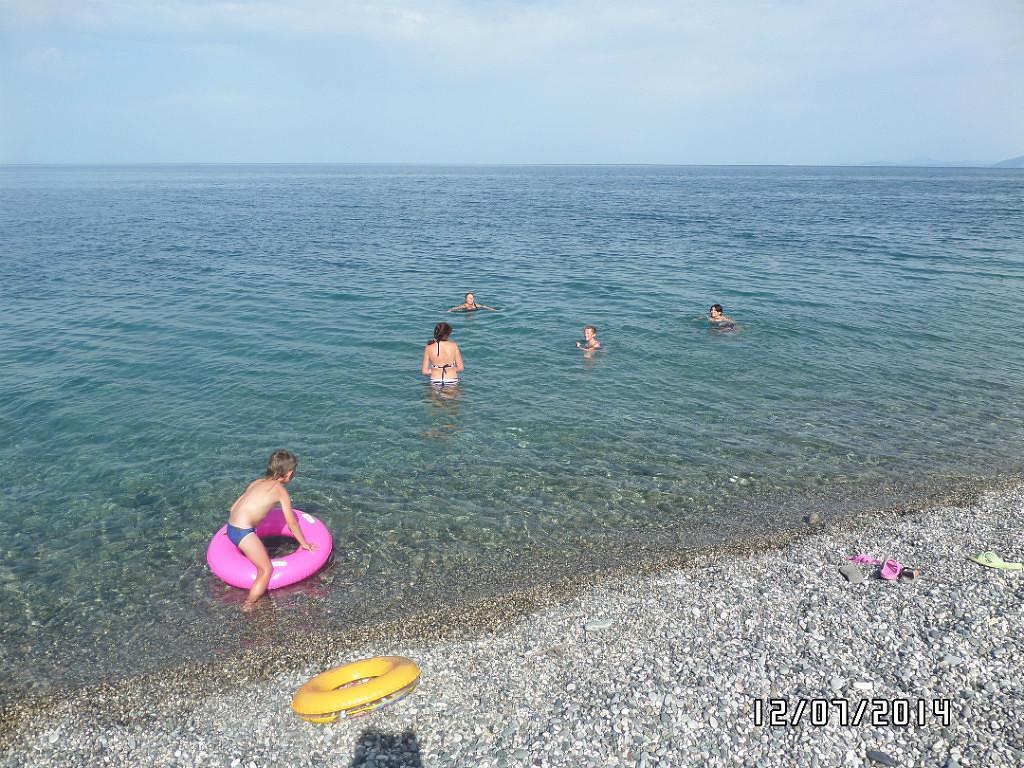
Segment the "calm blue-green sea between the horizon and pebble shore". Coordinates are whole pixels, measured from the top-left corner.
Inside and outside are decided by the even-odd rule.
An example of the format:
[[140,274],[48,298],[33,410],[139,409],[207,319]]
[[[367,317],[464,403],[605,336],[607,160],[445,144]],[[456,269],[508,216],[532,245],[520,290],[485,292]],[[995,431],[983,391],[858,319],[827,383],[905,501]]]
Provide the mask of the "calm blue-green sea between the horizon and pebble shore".
[[0,278],[8,694],[250,642],[205,551],[276,447],[336,539],[279,638],[1024,466],[1024,171],[4,167]]

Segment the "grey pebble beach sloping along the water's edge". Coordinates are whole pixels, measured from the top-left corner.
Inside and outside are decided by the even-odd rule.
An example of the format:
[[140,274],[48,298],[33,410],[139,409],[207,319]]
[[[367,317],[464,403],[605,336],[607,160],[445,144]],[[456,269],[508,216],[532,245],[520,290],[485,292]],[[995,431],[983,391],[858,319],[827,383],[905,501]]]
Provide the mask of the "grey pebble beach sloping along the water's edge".
[[[0,765],[1020,766],[1024,573],[967,555],[1024,559],[1022,526],[1024,485],[826,517],[641,575],[311,636],[291,668],[243,654],[23,699]],[[849,583],[839,568],[861,552],[922,575],[863,565]],[[326,726],[291,711],[311,676],[383,654],[421,667],[406,698]]]

